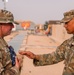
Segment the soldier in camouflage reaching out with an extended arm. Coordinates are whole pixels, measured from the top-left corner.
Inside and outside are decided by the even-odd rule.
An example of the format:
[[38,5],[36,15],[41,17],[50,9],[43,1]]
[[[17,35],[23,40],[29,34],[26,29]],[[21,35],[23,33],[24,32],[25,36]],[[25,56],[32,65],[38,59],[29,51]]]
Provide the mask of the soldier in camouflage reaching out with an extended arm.
[[65,12],[61,22],[64,23],[67,33],[73,34],[73,37],[65,40],[55,52],[43,55],[35,55],[30,51],[19,51],[19,53],[33,59],[36,66],[51,65],[65,60],[62,75],[74,75],[74,10]]

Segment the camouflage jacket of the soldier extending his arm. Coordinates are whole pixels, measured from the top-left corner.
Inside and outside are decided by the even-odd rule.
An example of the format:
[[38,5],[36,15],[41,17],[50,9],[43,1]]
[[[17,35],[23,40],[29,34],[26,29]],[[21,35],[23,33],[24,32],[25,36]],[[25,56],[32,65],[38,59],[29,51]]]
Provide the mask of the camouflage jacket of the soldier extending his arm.
[[40,60],[33,60],[34,65],[51,65],[64,60],[62,75],[74,75],[74,36],[64,41],[55,52],[39,55]]

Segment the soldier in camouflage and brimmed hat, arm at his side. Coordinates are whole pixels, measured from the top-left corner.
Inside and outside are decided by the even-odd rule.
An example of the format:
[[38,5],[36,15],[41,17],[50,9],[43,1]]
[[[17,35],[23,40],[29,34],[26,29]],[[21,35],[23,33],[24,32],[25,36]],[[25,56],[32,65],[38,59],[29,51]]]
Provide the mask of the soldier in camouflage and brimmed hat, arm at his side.
[[11,33],[14,17],[7,10],[0,9],[0,75],[19,75],[19,61],[15,58],[15,65],[12,65],[10,47],[4,37]]

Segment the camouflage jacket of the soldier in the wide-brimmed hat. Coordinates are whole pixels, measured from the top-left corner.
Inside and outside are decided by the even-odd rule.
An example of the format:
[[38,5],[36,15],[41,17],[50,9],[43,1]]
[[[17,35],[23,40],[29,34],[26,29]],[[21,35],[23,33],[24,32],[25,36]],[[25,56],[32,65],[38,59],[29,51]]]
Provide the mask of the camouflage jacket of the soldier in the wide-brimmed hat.
[[9,48],[2,38],[0,38],[0,75],[19,75],[18,68],[12,66]]

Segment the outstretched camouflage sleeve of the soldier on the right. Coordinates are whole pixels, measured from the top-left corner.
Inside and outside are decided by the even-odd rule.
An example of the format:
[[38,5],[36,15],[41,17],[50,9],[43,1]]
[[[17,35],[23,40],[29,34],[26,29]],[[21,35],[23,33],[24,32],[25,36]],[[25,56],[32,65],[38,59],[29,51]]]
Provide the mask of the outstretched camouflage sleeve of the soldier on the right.
[[57,47],[55,52],[39,55],[40,59],[33,60],[35,66],[44,66],[56,64],[65,59],[65,50],[66,50],[67,41],[63,42],[59,47]]

